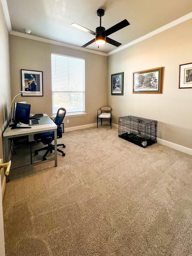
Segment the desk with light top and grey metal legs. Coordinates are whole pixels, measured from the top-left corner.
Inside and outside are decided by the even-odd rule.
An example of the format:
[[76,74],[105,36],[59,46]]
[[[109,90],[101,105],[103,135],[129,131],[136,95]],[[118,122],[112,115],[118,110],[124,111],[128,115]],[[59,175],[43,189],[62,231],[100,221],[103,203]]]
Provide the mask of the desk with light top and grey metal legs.
[[[22,126],[29,126],[29,125],[22,124],[19,127],[22,127]],[[57,166],[57,125],[47,116],[47,114],[44,114],[44,117],[39,120],[38,125],[32,125],[30,127],[31,128],[29,129],[20,128],[20,129],[12,129],[12,130],[11,130],[11,127],[9,126],[6,128],[6,130],[3,133],[4,162],[9,161],[9,144],[8,144],[9,138],[31,135],[35,133],[42,133],[45,131],[54,131],[55,157],[44,160],[44,161],[36,162],[36,163],[32,163],[31,161],[31,165],[37,165],[37,164],[42,164],[49,161],[55,161],[55,167],[56,167]],[[32,159],[32,156],[31,156],[31,159]],[[6,182],[9,182],[9,181],[10,181],[9,176],[6,175]]]

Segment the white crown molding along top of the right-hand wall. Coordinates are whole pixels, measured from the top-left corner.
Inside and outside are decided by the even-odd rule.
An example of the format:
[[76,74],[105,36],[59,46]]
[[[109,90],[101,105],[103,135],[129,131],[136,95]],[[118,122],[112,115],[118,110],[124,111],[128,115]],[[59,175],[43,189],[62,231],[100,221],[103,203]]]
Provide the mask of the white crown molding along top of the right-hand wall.
[[168,23],[168,24],[166,24],[166,25],[164,25],[164,26],[162,26],[162,27],[160,27],[160,28],[158,28],[158,29],[155,29],[154,31],[152,31],[152,32],[150,32],[150,33],[148,33],[148,34],[146,34],[146,35],[140,37],[140,38],[137,38],[136,40],[134,40],[134,41],[132,41],[132,42],[130,42],[130,43],[128,43],[128,44],[125,44],[125,45],[119,47],[119,48],[116,49],[116,50],[113,50],[113,51],[107,53],[107,56],[112,55],[112,54],[114,54],[114,53],[117,53],[117,52],[119,52],[119,51],[121,51],[121,50],[123,50],[123,49],[125,49],[125,48],[128,48],[128,47],[130,47],[131,45],[137,44],[137,43],[139,43],[139,42],[141,42],[141,41],[143,41],[143,40],[145,40],[145,39],[147,39],[147,38],[149,38],[149,37],[152,37],[152,36],[154,36],[154,35],[156,35],[156,34],[158,34],[158,33],[161,33],[161,32],[163,32],[164,30],[170,29],[170,28],[172,28],[172,27],[174,27],[174,26],[176,26],[176,25],[178,25],[178,24],[180,24],[180,23],[182,23],[182,22],[184,22],[184,21],[186,21],[186,20],[189,20],[189,19],[191,19],[191,18],[192,18],[192,12],[190,12],[190,13],[188,13],[188,14],[186,14],[186,15],[180,17],[179,19],[174,20],[174,21],[172,21],[172,22],[170,22],[170,23]]

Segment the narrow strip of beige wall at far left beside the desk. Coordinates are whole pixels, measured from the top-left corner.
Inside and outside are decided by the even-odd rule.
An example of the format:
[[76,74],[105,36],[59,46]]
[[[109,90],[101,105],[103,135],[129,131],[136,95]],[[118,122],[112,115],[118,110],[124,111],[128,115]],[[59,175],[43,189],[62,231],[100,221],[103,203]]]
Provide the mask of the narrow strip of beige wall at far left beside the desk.
[[[10,113],[10,66],[9,66],[9,33],[0,2],[0,134],[7,125]],[[3,143],[0,136],[0,158],[3,158]],[[1,183],[3,172],[1,175]]]

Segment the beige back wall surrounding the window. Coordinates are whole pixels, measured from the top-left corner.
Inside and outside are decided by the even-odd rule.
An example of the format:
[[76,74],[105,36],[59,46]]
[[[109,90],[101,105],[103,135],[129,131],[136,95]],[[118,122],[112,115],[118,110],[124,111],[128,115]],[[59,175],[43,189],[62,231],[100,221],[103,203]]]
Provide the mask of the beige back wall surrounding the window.
[[97,109],[107,104],[107,56],[87,53],[54,44],[10,35],[10,70],[12,98],[21,90],[20,70],[43,71],[43,97],[17,96],[15,101],[27,101],[32,113],[52,116],[51,53],[85,59],[85,111],[86,116],[64,119],[64,127],[97,122]]

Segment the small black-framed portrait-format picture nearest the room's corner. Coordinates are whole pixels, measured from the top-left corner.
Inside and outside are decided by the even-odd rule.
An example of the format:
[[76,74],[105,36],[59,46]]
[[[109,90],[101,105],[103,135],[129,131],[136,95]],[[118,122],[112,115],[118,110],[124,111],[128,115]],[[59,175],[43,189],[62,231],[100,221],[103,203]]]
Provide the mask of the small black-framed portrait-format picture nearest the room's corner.
[[111,95],[123,95],[124,72],[111,75]]

